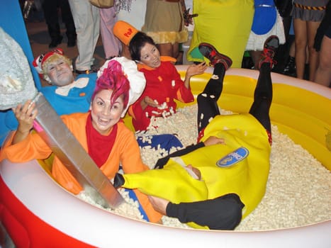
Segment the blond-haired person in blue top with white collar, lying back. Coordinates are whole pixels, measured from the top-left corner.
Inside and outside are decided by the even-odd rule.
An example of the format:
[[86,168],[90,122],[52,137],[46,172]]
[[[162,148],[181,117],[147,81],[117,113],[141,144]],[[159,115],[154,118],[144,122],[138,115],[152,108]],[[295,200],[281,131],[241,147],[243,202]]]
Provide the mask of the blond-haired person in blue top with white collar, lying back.
[[[89,111],[91,96],[96,85],[96,73],[79,75],[72,72],[72,61],[57,48],[33,60],[33,67],[49,86],[43,86],[40,92],[58,115],[86,113]],[[4,124],[0,127],[0,147],[6,135],[16,130],[18,122],[13,111],[1,114]],[[1,121],[2,123],[2,121]]]

